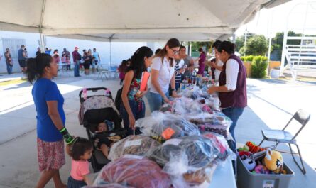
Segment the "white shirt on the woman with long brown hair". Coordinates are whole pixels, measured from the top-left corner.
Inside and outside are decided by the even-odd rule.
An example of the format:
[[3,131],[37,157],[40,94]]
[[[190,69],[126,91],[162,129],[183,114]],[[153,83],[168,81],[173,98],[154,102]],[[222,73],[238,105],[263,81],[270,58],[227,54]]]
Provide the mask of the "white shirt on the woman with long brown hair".
[[[175,62],[173,62],[175,64]],[[151,70],[158,70],[158,84],[160,85],[163,93],[168,92],[169,84],[173,74],[175,73],[175,66],[170,67],[170,62],[166,57],[163,57],[163,63],[161,62],[161,57],[153,58],[153,63],[151,64]],[[158,94],[158,91],[153,87],[151,82],[149,82],[149,88],[151,92]]]

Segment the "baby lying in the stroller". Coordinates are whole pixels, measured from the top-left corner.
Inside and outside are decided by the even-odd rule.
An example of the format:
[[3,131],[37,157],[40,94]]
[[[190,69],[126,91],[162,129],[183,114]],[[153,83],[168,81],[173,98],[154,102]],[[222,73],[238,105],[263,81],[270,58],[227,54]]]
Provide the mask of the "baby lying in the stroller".
[[[103,133],[108,131],[108,126],[107,123],[99,123],[97,126],[97,131],[96,133]],[[102,153],[105,157],[109,155],[109,148],[114,144],[114,142],[118,141],[121,139],[120,136],[110,136],[109,138],[97,138],[97,148],[99,150],[102,150]]]

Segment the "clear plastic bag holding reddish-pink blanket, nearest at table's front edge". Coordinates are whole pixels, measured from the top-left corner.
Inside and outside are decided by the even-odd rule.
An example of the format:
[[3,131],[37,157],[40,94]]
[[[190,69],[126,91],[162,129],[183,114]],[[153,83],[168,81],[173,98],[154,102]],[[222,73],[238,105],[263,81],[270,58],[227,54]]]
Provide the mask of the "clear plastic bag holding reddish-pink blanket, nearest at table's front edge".
[[94,185],[116,183],[137,188],[170,188],[168,174],[146,157],[125,155],[109,162],[99,172]]

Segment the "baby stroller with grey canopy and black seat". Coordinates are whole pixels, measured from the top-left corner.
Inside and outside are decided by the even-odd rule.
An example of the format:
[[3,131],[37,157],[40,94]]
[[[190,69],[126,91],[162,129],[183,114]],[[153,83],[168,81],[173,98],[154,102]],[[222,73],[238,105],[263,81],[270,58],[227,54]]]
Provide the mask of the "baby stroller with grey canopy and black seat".
[[[88,96],[88,91],[94,92]],[[126,131],[121,126],[121,117],[116,109],[112,94],[105,87],[84,88],[79,93],[80,99],[80,124],[86,128],[88,139],[94,145],[97,138],[108,138],[109,136],[120,136],[124,138]],[[108,131],[104,133],[95,133],[97,125],[104,121],[113,122],[113,126],[108,127]],[[108,125],[109,126],[109,125]],[[110,160],[107,159],[94,145],[91,163],[94,172],[98,172],[104,165],[107,165]]]

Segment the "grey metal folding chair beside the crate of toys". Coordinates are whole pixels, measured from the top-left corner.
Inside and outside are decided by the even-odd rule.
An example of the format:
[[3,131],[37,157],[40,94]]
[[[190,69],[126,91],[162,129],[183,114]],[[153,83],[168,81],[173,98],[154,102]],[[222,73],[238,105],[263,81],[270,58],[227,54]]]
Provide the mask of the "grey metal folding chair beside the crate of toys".
[[[294,136],[291,135],[291,133],[289,133],[288,131],[285,131],[285,128],[288,127],[288,125],[290,124],[290,122],[295,119],[296,121],[298,121],[301,124],[300,129],[298,130],[297,133],[295,133]],[[303,158],[302,155],[300,154],[300,148],[298,147],[298,144],[296,143],[296,136],[298,136],[298,134],[300,133],[300,131],[302,131],[302,129],[305,127],[305,125],[308,123],[308,121],[310,121],[310,114],[307,113],[307,111],[304,111],[302,109],[298,110],[294,116],[292,118],[290,118],[290,121],[288,121],[288,124],[286,124],[286,126],[282,129],[282,130],[261,130],[262,132],[262,136],[263,136],[263,140],[261,140],[261,143],[259,144],[259,146],[263,143],[264,140],[267,141],[272,141],[272,142],[276,142],[276,146],[279,143],[286,143],[288,144],[288,146],[290,147],[290,154],[293,157],[294,162],[296,163],[296,165],[298,165],[298,162],[295,160],[294,154],[298,154],[300,157],[300,163],[302,165],[302,167],[300,167],[300,165],[298,165],[298,167],[300,168],[300,170],[303,172],[303,174],[306,174],[306,170],[303,164]],[[293,153],[292,147],[291,145],[295,145],[296,148],[298,149],[298,153]]]

